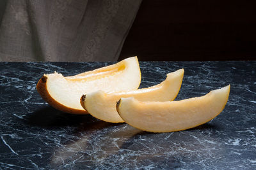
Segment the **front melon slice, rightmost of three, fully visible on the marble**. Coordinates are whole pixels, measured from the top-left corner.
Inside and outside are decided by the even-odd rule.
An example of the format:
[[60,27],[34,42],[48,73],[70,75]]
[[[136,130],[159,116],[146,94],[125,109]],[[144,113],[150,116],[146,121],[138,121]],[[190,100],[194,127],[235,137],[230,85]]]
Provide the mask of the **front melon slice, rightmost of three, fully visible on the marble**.
[[202,97],[182,101],[143,102],[134,97],[116,104],[120,117],[132,127],[148,132],[182,131],[209,122],[225,108],[230,85]]

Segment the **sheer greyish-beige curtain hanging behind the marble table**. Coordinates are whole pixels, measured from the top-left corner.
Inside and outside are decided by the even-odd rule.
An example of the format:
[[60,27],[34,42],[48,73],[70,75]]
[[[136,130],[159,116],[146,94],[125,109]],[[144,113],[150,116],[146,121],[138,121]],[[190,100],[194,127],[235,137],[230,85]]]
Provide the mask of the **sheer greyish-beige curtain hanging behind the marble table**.
[[9,0],[0,61],[114,61],[142,0]]

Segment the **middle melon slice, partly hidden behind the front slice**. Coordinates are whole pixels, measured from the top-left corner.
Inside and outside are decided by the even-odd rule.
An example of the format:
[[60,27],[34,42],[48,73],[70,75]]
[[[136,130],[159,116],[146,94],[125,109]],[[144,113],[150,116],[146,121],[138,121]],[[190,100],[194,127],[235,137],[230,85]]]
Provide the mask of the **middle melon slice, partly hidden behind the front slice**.
[[124,122],[116,111],[116,102],[120,97],[134,97],[139,101],[173,101],[179,93],[184,69],[167,74],[166,80],[158,85],[128,92],[110,92],[102,90],[81,97],[81,105],[93,117],[106,122]]

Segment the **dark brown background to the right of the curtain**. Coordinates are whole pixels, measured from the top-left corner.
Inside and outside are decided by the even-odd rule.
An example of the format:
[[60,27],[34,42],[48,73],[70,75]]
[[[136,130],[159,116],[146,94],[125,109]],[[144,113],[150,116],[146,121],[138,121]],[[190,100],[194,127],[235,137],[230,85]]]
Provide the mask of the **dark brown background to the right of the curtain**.
[[255,60],[255,47],[255,1],[143,0],[119,60]]

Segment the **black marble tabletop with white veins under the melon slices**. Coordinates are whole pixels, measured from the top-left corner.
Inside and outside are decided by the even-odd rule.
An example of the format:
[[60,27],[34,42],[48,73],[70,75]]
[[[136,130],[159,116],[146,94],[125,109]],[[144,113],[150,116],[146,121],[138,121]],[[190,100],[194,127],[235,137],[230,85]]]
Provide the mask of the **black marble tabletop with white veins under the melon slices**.
[[[71,76],[110,62],[0,62],[3,169],[256,169],[256,62],[140,62],[141,87],[185,69],[176,100],[231,85],[225,109],[187,131],[150,133],[51,108],[44,73]],[[0,169],[1,169],[0,168]]]

